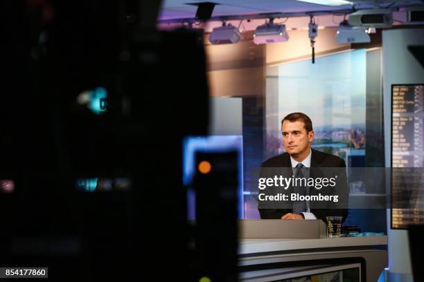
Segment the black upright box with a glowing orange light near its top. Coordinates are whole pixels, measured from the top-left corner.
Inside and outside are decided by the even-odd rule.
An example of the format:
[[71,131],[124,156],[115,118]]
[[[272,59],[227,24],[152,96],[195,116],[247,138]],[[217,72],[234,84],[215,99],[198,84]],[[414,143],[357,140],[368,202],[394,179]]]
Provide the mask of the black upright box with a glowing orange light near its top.
[[195,281],[237,281],[238,155],[196,153]]

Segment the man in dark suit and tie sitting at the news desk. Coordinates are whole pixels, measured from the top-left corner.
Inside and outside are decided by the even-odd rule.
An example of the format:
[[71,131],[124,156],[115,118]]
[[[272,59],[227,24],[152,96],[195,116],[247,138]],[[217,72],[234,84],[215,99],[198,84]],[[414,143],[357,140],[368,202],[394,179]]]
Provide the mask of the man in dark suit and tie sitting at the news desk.
[[[260,218],[281,218],[284,220],[318,218],[324,220],[324,222],[326,222],[326,216],[343,216],[343,220],[346,219],[348,214],[346,171],[344,169],[336,169],[346,167],[344,160],[328,153],[316,151],[310,147],[312,140],[314,140],[314,131],[312,129],[312,121],[304,113],[290,113],[290,115],[283,118],[281,131],[286,152],[263,162],[260,166],[261,175],[263,176],[265,174],[264,171],[270,171],[270,169],[276,171],[276,169],[272,168],[290,168],[279,170],[281,174],[285,174],[286,178],[318,178],[324,176],[325,173],[322,171],[326,171],[328,175],[328,171],[334,170],[339,174],[337,185],[334,187],[326,187],[319,190],[315,189],[315,187],[310,187],[308,191],[306,191],[306,187],[290,187],[286,192],[296,192],[299,189],[303,189],[301,191],[303,195],[317,195],[318,193],[337,195],[339,201],[337,203],[323,202],[319,203],[319,205],[310,205],[309,202],[295,200],[288,201],[284,206],[279,207],[262,205],[259,202]],[[301,171],[303,171],[303,174]],[[299,173],[301,173],[300,176]],[[270,191],[272,190],[270,189]],[[274,194],[276,193],[274,192]]]

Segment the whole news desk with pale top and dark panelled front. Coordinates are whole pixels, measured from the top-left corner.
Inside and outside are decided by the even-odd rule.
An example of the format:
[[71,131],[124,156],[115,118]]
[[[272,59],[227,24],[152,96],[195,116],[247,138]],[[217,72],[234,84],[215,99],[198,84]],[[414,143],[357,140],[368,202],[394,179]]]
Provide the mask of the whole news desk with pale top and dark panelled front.
[[337,265],[360,265],[360,281],[375,282],[388,263],[387,236],[239,238],[238,242],[240,281],[283,281],[288,272],[329,272]]

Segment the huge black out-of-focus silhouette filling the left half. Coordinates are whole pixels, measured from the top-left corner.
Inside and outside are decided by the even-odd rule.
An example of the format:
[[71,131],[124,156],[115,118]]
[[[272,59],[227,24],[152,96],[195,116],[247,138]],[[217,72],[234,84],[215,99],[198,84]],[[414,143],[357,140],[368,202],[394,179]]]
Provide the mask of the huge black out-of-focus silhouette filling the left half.
[[[16,191],[0,197],[0,265],[49,267],[52,281],[188,281],[182,138],[206,134],[204,49],[141,21],[147,2],[1,3],[0,171]],[[98,87],[101,114],[77,102]],[[94,177],[133,187],[78,193]]]

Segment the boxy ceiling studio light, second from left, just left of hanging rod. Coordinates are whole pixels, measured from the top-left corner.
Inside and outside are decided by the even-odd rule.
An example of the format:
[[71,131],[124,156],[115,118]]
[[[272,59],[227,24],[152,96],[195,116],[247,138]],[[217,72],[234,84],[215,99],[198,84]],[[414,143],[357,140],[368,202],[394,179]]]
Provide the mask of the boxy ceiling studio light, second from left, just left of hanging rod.
[[258,26],[254,32],[255,44],[267,44],[288,41],[288,33],[284,24],[275,24],[274,19],[269,23]]

